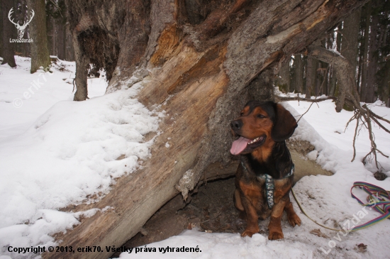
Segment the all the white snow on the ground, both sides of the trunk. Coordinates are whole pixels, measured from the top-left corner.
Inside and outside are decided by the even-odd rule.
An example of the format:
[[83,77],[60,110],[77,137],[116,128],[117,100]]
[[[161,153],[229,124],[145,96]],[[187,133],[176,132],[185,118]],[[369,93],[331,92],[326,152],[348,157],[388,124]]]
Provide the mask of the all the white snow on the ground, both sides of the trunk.
[[[94,202],[90,197],[97,195],[99,199],[109,192],[116,177],[135,170],[138,161],[150,155],[152,140],[144,143],[143,135],[158,131],[162,116],[132,98],[141,84],[104,95],[104,79],[89,79],[91,99],[74,102],[73,85],[67,83],[74,77],[73,62],[63,62],[69,71],[33,75],[28,59],[16,57],[16,62],[16,69],[0,66],[0,259],[34,258],[35,254],[17,255],[7,248],[53,245],[51,235],[78,224],[79,216],[104,213],[104,209],[83,213],[58,209]],[[38,80],[40,87],[34,87]],[[310,104],[291,101],[284,105],[298,118]],[[316,221],[333,228],[350,222],[352,227],[355,216],[362,215],[362,206],[350,197],[353,182],[390,189],[390,178],[377,181],[372,176],[376,168],[360,162],[369,151],[364,130],[357,140],[357,158],[350,162],[355,123],[346,131],[344,127],[352,112],[337,114],[331,101],[318,106],[314,104],[303,116],[292,138],[310,141],[316,147],[311,159],[335,175],[303,177],[294,190]],[[390,116],[390,109],[379,102],[372,109]],[[378,127],[374,133],[378,148],[390,154],[389,135]],[[123,155],[124,159],[117,160]],[[379,162],[390,176],[390,160],[379,155]],[[355,192],[363,199],[359,190]],[[284,216],[282,241],[267,239],[266,220],[260,221],[266,233],[252,238],[241,238],[238,233],[184,231],[165,241],[134,248],[132,253],[122,253],[121,258],[389,258],[390,221],[357,232],[337,233],[314,224],[293,203],[302,224],[292,228]],[[367,209],[358,224],[376,216]],[[318,228],[321,232],[316,231]],[[357,246],[361,243],[367,245],[366,251]],[[176,248],[184,252],[176,252]],[[185,252],[185,248],[196,252]]]

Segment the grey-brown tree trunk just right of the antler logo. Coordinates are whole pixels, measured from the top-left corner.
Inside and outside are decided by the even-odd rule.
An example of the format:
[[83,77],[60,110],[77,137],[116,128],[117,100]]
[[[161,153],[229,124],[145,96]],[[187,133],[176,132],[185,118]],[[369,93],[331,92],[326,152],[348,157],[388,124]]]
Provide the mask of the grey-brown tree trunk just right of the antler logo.
[[33,10],[35,16],[30,22],[30,43],[31,70],[33,74],[40,67],[46,68],[50,65],[48,34],[46,33],[45,0],[28,0],[28,11]]

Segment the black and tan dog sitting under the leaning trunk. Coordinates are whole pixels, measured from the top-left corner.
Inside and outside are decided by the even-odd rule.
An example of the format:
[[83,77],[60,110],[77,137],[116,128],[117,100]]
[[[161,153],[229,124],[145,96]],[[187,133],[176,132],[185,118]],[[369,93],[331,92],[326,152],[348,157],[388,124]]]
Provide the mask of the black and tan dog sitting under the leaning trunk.
[[268,238],[281,239],[283,210],[291,226],[301,226],[289,197],[294,164],[285,142],[294,133],[296,120],[273,101],[249,101],[230,126],[233,135],[239,137],[230,153],[240,155],[241,160],[234,193],[235,206],[245,213],[247,221],[241,236],[258,233],[259,217],[267,219],[271,215]]

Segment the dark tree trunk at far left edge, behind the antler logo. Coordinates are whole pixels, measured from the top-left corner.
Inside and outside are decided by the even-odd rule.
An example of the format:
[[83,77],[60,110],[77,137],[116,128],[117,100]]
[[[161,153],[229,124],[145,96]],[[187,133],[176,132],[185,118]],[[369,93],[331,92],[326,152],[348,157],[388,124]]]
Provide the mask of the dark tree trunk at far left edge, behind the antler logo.
[[[16,67],[15,62],[15,44],[11,43],[10,39],[13,38],[13,30],[16,30],[15,26],[9,21],[8,14],[9,11],[11,11],[11,8],[13,8],[13,0],[2,0],[1,4],[2,7],[2,20],[3,20],[3,62],[1,64],[7,64],[10,67]],[[12,15],[14,15],[15,11],[13,10]]]

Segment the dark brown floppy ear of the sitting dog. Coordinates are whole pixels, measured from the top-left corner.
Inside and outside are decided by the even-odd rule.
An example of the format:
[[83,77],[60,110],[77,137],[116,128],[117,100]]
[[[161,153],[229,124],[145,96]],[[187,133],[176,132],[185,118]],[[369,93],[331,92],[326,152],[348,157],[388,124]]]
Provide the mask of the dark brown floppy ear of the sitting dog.
[[280,104],[275,107],[275,121],[274,127],[271,131],[271,137],[274,141],[283,141],[291,137],[294,133],[296,126],[296,120],[289,111],[284,109]]

